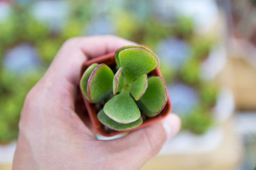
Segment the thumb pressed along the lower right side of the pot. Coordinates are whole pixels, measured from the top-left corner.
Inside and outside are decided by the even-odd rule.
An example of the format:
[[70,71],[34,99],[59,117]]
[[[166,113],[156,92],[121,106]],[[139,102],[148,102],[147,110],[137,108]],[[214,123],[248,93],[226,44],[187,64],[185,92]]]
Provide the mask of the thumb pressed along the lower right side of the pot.
[[[175,136],[179,129],[180,118],[172,113],[163,122],[132,132],[124,138],[109,141],[110,146],[107,146],[112,153],[116,154],[116,157],[122,155],[124,160],[120,159],[121,162],[142,166],[148,159],[156,155],[166,139]],[[131,169],[137,168],[132,167]]]

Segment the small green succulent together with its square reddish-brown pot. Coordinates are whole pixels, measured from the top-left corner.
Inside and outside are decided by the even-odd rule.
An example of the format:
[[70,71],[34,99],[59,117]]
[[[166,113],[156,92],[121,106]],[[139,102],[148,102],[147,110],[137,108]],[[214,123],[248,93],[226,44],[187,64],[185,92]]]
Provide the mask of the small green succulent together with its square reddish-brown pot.
[[152,50],[141,45],[124,46],[84,63],[80,89],[97,134],[131,132],[170,113],[158,64]]

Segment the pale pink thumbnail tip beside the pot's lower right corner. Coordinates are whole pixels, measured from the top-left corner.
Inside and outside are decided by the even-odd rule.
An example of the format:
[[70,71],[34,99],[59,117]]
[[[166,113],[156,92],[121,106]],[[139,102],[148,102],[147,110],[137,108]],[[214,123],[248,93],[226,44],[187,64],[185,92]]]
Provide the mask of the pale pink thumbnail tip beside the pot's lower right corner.
[[180,118],[171,113],[168,117],[164,118],[163,127],[167,138],[172,138],[180,130]]

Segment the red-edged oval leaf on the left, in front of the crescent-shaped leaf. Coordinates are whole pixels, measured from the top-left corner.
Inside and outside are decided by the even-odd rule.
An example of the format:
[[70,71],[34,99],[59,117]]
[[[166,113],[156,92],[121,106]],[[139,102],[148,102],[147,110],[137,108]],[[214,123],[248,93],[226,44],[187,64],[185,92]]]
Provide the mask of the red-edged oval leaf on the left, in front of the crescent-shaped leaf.
[[113,71],[106,64],[99,64],[93,69],[87,85],[87,94],[90,102],[98,103],[111,94],[113,77]]

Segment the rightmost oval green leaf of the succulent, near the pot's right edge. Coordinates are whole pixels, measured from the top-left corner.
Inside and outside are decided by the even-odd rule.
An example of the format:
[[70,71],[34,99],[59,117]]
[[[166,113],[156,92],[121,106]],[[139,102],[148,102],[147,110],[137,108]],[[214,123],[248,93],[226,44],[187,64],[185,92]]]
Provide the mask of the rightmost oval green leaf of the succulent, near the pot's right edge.
[[147,110],[160,113],[167,102],[167,90],[163,79],[159,76],[148,78],[148,88],[140,101]]

